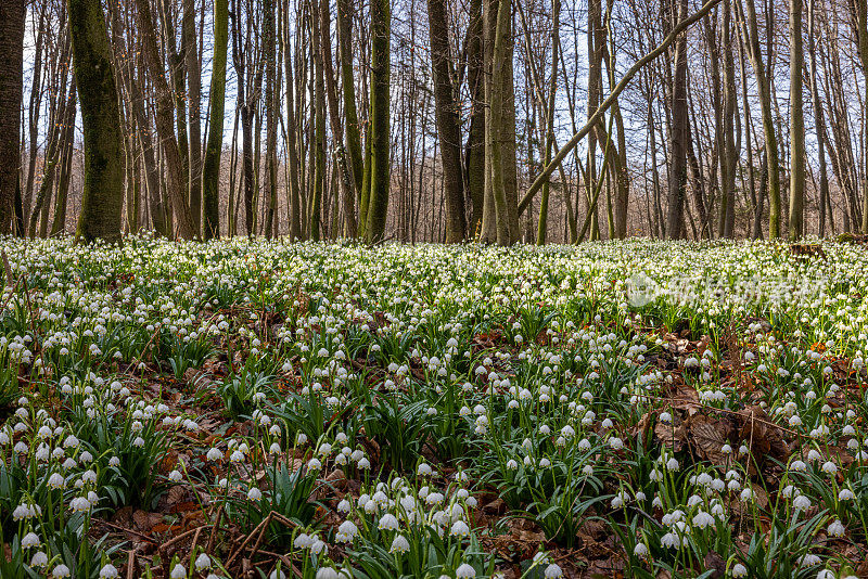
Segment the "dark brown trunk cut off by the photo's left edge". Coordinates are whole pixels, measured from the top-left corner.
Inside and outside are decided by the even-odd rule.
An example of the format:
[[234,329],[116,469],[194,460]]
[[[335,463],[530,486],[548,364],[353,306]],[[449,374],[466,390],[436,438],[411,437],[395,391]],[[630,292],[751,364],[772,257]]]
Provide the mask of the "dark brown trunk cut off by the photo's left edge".
[[0,2],[0,233],[12,222],[21,166],[24,0]]

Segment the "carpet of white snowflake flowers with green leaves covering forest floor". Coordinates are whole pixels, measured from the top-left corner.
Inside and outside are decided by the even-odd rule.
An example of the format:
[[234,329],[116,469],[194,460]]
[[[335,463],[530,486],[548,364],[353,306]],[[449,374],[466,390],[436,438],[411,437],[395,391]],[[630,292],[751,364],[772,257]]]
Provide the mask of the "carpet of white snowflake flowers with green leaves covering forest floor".
[[868,248],[0,239],[3,579],[868,577]]

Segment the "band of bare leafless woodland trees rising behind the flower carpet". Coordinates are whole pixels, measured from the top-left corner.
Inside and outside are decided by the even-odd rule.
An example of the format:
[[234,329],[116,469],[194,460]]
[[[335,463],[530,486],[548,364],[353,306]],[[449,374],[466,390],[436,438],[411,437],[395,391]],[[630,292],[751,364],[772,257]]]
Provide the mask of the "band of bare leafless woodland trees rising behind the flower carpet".
[[865,0],[0,0],[0,231],[868,233],[866,79]]

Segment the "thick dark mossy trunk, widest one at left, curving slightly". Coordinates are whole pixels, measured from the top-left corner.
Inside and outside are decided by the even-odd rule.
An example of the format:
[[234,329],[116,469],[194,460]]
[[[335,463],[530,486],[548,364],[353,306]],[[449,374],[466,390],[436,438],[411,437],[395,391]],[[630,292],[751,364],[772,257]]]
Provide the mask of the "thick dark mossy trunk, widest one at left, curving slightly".
[[69,0],[75,81],[85,133],[85,189],[76,236],[120,241],[124,136],[112,46],[99,0]]

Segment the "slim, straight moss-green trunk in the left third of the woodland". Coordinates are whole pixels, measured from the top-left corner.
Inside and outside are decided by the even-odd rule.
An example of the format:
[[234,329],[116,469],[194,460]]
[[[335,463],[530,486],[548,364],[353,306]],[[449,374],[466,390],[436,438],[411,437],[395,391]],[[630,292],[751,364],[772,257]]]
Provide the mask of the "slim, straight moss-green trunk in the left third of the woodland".
[[[220,153],[224,146],[224,108],[226,105],[226,52],[229,46],[229,0],[214,2],[214,60],[212,61],[210,117],[208,142],[202,175],[205,239],[220,235]],[[231,185],[230,185],[231,186]]]

